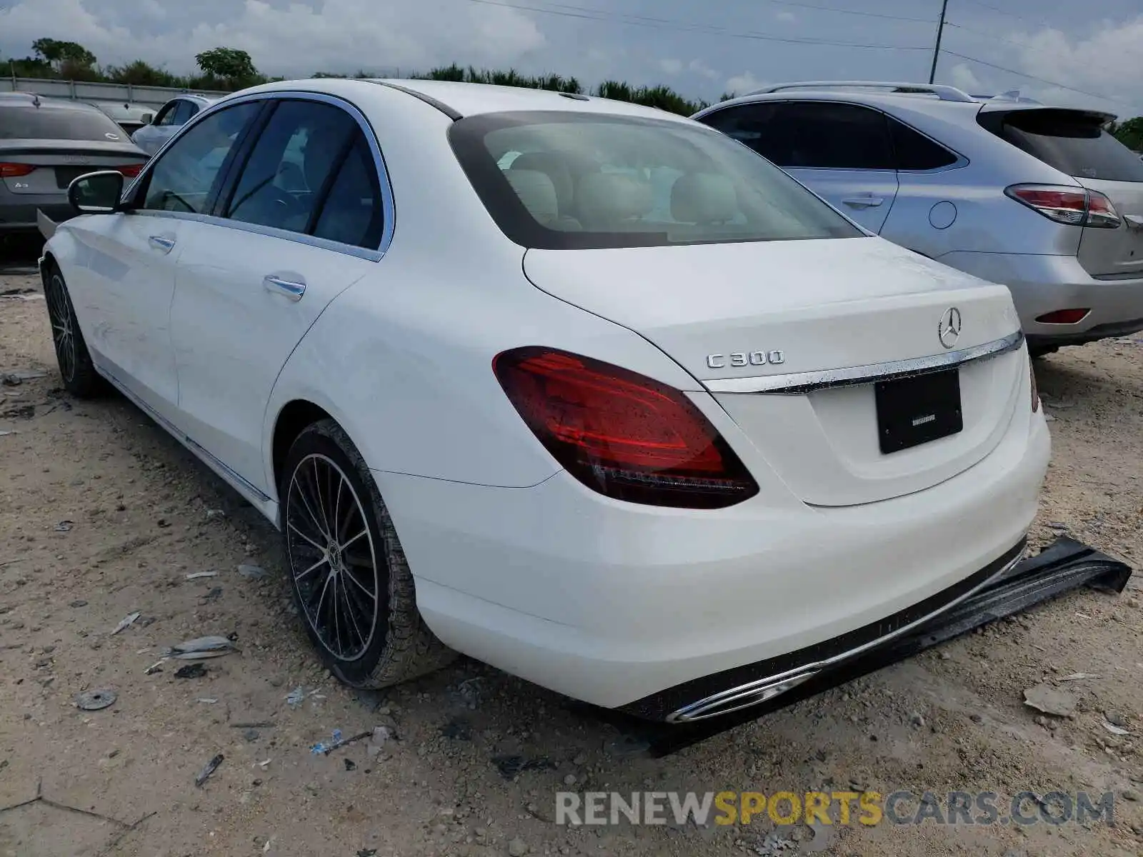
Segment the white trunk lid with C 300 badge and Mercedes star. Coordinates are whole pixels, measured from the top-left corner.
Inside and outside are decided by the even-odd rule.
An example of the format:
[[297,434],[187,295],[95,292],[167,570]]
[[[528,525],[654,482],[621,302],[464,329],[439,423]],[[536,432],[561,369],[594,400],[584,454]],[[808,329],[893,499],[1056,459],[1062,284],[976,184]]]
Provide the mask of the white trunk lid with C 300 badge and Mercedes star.
[[[999,443],[1026,397],[1008,290],[880,239],[531,249],[523,267],[538,288],[673,358],[809,504],[871,503],[944,481]],[[942,343],[950,311],[959,335]],[[933,368],[1005,337],[1005,353],[920,379],[797,387],[862,367]],[[782,392],[766,392],[775,385]],[[889,440],[941,436],[885,451],[886,430]]]

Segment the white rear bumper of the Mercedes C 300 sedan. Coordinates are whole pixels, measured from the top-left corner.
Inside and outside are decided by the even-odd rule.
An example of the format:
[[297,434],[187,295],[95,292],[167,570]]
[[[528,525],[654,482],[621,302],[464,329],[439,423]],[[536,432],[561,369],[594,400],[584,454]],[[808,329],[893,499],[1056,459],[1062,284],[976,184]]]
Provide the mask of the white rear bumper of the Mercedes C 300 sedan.
[[1025,418],[964,473],[846,508],[768,492],[718,512],[653,508],[566,473],[522,489],[375,475],[441,640],[617,708],[876,625],[1004,564],[1049,447],[1044,419]]

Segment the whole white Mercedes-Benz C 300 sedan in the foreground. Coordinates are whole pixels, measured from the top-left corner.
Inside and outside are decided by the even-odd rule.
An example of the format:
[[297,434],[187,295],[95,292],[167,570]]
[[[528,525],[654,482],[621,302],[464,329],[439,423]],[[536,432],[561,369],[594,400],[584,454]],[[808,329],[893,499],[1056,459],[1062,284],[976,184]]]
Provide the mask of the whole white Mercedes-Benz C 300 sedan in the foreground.
[[71,198],[67,390],[110,383],[281,530],[352,686],[461,651],[696,720],[1023,554],[1049,438],[1008,290],[690,120],[287,81]]

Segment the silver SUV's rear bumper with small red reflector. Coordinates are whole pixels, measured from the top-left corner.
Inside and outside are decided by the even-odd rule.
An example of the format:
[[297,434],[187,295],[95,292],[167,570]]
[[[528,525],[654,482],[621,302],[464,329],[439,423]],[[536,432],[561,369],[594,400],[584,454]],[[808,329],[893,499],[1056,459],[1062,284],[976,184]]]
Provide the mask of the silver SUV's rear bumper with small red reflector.
[[[1143,277],[1096,280],[1074,256],[949,253],[938,261],[1007,286],[1030,345],[1078,345],[1143,330]],[[1036,320],[1056,310],[1080,307],[1090,312],[1074,325]]]

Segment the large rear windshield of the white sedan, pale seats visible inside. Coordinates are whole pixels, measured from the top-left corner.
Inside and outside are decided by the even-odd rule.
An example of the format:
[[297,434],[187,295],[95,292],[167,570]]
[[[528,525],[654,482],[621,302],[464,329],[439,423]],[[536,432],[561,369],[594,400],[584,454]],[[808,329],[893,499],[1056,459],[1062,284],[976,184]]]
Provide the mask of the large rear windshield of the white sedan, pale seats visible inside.
[[449,139],[512,241],[544,249],[855,238],[781,169],[709,128],[601,113],[487,113]]

